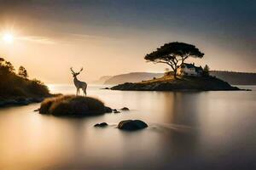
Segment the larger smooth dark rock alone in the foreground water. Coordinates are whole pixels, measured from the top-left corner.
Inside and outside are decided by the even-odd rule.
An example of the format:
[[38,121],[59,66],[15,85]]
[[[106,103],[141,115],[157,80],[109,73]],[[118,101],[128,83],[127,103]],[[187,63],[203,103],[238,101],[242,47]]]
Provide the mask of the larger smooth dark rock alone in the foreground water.
[[147,123],[140,120],[125,120],[119,122],[118,128],[121,130],[135,131],[148,127]]

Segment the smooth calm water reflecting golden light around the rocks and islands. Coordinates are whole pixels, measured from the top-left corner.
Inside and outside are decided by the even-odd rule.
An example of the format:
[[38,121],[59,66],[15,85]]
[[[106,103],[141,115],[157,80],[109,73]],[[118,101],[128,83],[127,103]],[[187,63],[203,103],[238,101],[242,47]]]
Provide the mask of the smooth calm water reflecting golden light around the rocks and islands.
[[[73,86],[50,85],[72,94]],[[38,104],[0,110],[0,169],[255,169],[253,91],[123,92],[89,86],[88,95],[120,114],[86,118],[40,115]],[[140,119],[149,127],[122,132]],[[106,128],[93,127],[108,122]]]

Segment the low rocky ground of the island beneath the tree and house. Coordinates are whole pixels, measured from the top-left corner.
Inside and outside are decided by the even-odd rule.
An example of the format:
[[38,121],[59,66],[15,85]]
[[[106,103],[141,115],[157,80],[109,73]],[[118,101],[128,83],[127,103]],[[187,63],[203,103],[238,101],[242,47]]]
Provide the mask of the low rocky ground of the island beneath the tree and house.
[[125,82],[111,88],[112,90],[136,90],[136,91],[217,91],[240,90],[232,87],[216,77],[177,77],[165,76],[143,82]]

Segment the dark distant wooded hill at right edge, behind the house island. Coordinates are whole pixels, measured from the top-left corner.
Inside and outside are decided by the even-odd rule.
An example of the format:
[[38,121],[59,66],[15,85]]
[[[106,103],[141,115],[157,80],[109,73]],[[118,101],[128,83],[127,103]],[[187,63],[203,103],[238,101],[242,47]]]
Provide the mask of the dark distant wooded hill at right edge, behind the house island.
[[230,84],[256,85],[256,73],[234,71],[211,71],[212,76],[218,77]]

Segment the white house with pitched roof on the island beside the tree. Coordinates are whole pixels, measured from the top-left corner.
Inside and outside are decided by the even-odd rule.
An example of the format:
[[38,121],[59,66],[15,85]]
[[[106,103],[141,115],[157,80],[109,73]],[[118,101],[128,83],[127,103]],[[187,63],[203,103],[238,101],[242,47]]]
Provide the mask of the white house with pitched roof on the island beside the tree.
[[201,77],[203,69],[201,66],[195,66],[195,64],[183,63],[177,68],[177,75],[180,76],[192,76]]

